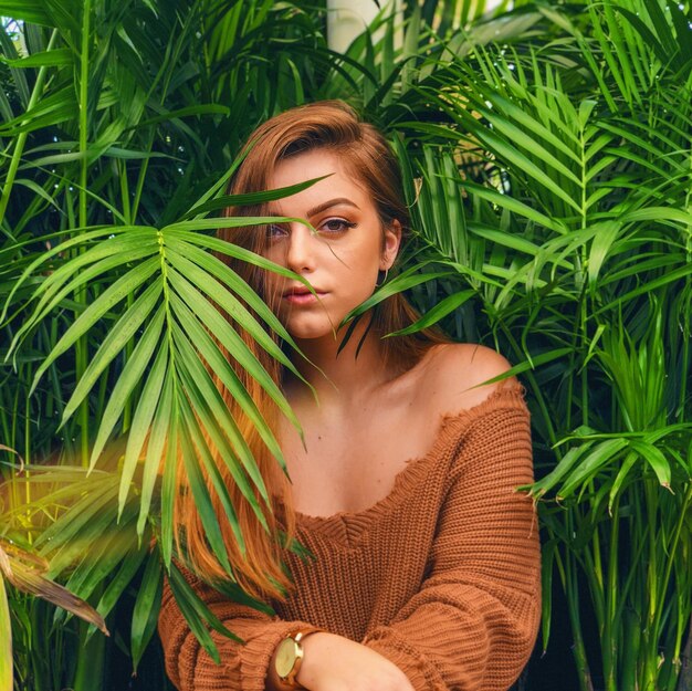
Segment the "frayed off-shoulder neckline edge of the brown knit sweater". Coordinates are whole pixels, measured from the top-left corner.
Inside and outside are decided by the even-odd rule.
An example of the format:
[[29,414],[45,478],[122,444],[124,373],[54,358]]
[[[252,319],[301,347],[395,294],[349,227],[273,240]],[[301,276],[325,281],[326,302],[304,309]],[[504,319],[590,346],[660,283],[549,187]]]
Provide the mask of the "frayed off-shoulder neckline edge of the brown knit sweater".
[[457,412],[440,415],[438,431],[428,451],[422,456],[403,461],[401,470],[394,478],[390,491],[374,504],[357,511],[337,511],[329,515],[312,515],[296,511],[298,524],[305,527],[319,527],[344,521],[365,524],[378,515],[388,513],[389,509],[401,496],[406,496],[409,490],[412,490],[423,480],[430,461],[448,451],[450,446],[460,439],[462,431],[473,421],[482,418],[491,410],[502,407],[499,405],[501,402],[505,402],[506,407],[525,409],[524,388],[520,384],[501,386],[475,406],[462,408]]

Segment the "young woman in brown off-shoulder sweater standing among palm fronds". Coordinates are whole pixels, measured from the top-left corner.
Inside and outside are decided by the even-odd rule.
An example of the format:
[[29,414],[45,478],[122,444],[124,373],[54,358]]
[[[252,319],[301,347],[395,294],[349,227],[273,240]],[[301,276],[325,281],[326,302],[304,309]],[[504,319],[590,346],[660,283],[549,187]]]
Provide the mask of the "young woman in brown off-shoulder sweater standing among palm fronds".
[[[244,641],[214,634],[217,666],[167,589],[159,632],[168,673],[180,691],[506,690],[533,648],[541,600],[537,525],[531,500],[515,490],[532,481],[521,387],[514,379],[483,384],[508,368],[489,348],[430,333],[382,339],[415,317],[401,297],[361,318],[339,352],[337,326],[386,281],[408,230],[395,157],[338,102],[279,115],[250,143],[232,192],[323,178],[266,207],[229,210],[305,219],[314,230],[294,221],[220,232],[314,289],[233,266],[307,356],[293,363],[316,396],[264,358],[300,420],[303,444],[245,379],[272,420],[289,484],[218,383],[274,502],[268,533],[238,498],[248,558],[230,531],[229,557],[238,582],[276,614],[191,579]],[[193,569],[221,578],[185,491],[178,521]],[[311,556],[282,548],[279,531]]]

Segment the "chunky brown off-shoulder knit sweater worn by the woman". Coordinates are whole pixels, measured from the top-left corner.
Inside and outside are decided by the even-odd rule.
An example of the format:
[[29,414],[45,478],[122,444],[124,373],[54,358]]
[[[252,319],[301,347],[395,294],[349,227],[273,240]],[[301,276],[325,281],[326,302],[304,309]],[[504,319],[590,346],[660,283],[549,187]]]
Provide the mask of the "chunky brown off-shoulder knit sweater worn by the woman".
[[166,588],[159,634],[180,691],[263,691],[280,640],[319,627],[395,662],[417,691],[504,691],[533,648],[541,610],[528,412],[517,387],[443,418],[375,505],[298,515],[313,555],[289,557],[295,590],[275,617],[196,584],[245,645],[213,634],[214,664]]

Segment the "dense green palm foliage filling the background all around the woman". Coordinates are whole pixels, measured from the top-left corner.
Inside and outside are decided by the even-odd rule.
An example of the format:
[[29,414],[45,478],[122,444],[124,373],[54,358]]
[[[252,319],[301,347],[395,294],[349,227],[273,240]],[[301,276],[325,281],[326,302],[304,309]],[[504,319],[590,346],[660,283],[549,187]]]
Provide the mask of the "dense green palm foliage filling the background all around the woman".
[[[0,691],[167,688],[166,569],[216,626],[170,563],[157,454],[176,429],[205,462],[210,435],[261,482],[203,368],[230,373],[207,328],[263,376],[209,307],[253,300],[214,214],[243,137],[329,97],[406,166],[415,238],[373,302],[409,291],[527,388],[547,652],[522,688],[692,687],[692,10],[514,4],[384,8],[337,54],[319,3],[0,0]],[[109,639],[29,594],[86,614],[53,579]]]

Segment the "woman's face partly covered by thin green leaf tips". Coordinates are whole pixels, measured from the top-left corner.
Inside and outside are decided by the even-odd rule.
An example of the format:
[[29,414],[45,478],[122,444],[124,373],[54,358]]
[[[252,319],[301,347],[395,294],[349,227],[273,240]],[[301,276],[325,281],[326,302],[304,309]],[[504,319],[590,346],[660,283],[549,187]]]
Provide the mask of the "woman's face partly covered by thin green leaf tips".
[[329,176],[271,202],[270,214],[303,218],[269,229],[265,256],[306,279],[317,296],[298,283],[266,273],[266,295],[296,339],[333,336],[354,307],[375,290],[379,271],[397,255],[400,224],[382,229],[369,191],[354,180],[338,155],[326,149],[297,154],[274,169],[271,188]]

